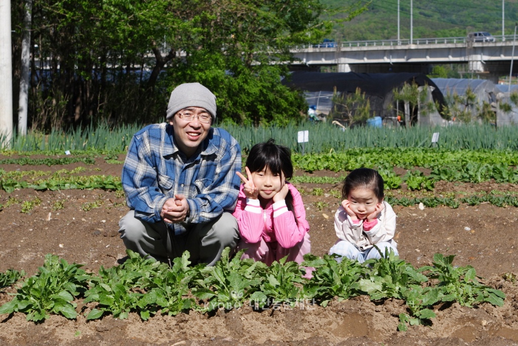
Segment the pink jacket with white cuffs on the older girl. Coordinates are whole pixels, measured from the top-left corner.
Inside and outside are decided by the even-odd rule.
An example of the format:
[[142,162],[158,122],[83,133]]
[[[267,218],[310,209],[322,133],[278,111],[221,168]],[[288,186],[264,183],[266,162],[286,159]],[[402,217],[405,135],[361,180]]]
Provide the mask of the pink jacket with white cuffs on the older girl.
[[267,243],[277,241],[284,248],[293,247],[303,240],[309,231],[306,210],[297,189],[288,182],[286,184],[293,196],[293,209],[298,225],[284,200],[273,203],[273,199],[270,199],[266,209],[263,209],[258,199],[246,198],[241,184],[233,215],[237,218],[242,240],[257,243],[263,238]]

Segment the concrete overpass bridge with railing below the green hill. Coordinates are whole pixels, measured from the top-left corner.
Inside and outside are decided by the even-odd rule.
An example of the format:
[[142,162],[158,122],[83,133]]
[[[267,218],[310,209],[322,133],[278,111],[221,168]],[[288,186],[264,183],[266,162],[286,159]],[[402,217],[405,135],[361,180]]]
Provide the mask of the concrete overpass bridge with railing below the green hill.
[[[494,36],[494,42],[473,42],[468,37],[419,38],[377,41],[350,41],[293,49],[300,59],[294,70],[314,70],[320,66],[337,66],[338,72],[420,72],[429,73],[431,65],[467,64],[467,71],[485,74],[498,82],[499,76],[509,76],[516,59],[518,40],[513,35]],[[320,46],[320,47],[319,47]],[[518,61],[513,64],[513,75]]]

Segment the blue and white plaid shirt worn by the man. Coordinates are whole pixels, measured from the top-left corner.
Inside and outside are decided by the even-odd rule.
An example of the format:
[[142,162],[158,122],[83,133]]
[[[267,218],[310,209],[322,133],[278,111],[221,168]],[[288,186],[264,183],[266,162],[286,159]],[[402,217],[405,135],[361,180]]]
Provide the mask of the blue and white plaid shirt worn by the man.
[[211,128],[196,154],[187,159],[175,144],[173,127],[152,124],[133,136],[122,168],[122,186],[135,217],[149,223],[162,222],[160,212],[167,199],[185,195],[188,219],[168,225],[180,234],[190,223],[209,222],[223,211],[234,211],[240,170],[241,148],[227,131]]

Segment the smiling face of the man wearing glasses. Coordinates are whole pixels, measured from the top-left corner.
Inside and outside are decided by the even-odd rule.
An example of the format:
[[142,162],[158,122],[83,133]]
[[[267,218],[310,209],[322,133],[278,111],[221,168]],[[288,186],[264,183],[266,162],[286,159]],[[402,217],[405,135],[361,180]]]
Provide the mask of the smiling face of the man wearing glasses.
[[[182,117],[192,116],[194,116],[192,120],[182,119]],[[180,110],[169,120],[169,124],[175,129],[176,144],[186,157],[193,156],[198,146],[207,138],[211,123],[200,121],[200,118],[203,120],[206,117],[211,119],[210,113],[205,108],[188,107]]]

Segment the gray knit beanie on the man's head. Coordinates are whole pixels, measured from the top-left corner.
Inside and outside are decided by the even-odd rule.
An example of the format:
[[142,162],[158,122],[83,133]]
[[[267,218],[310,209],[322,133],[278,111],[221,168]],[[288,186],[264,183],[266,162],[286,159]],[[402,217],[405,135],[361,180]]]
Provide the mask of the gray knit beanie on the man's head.
[[216,121],[216,96],[199,83],[180,84],[171,92],[166,119],[188,107],[205,108],[212,116],[212,122]]

